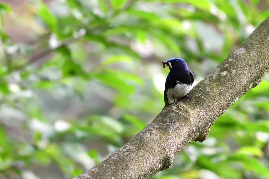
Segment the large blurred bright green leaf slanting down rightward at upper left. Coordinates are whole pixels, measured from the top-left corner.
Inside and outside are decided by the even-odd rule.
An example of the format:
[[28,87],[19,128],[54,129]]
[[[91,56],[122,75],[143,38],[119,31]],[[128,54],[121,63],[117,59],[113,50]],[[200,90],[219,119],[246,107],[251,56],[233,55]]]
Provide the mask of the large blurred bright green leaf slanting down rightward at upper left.
[[42,3],[41,6],[37,10],[38,15],[41,17],[42,20],[48,25],[49,29],[58,34],[58,27],[57,27],[57,19],[52,14],[52,12],[48,9],[48,6],[45,3]]

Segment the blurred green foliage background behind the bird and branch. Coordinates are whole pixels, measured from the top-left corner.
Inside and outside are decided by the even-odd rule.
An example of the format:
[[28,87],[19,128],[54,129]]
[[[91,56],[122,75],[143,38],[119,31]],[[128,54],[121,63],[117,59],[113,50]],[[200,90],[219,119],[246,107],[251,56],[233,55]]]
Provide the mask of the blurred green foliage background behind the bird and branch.
[[[0,179],[71,178],[164,107],[185,59],[194,85],[269,16],[268,0],[2,0]],[[269,75],[154,179],[269,178]]]

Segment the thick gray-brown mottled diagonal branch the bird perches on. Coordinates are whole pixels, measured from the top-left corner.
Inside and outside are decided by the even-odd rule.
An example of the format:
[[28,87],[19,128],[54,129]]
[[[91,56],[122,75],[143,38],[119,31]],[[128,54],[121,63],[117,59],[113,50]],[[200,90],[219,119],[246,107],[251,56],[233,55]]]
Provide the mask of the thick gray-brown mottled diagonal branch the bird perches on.
[[214,122],[269,71],[269,17],[233,54],[103,162],[73,179],[150,178],[169,168],[174,156],[204,141]]

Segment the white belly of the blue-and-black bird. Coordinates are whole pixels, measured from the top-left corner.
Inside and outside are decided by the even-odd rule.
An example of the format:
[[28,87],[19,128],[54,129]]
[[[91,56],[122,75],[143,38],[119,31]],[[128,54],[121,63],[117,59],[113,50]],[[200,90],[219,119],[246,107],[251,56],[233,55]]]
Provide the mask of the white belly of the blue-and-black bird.
[[168,97],[168,103],[174,103],[173,97],[175,97],[175,100],[179,100],[180,98],[188,94],[191,86],[192,85],[178,83],[174,88],[168,89],[166,93]]

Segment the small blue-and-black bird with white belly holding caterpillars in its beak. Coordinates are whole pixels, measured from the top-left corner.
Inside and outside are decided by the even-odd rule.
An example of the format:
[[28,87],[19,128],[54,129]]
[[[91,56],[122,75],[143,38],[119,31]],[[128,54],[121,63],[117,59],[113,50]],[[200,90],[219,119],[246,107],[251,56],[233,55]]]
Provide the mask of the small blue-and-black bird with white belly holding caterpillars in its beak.
[[165,81],[164,108],[171,104],[178,105],[176,101],[183,97],[192,101],[192,98],[187,94],[190,91],[194,79],[192,71],[189,70],[185,60],[172,58],[167,61],[162,61],[162,64],[164,68],[166,64],[170,69]]

